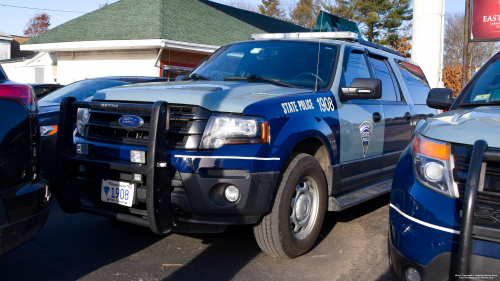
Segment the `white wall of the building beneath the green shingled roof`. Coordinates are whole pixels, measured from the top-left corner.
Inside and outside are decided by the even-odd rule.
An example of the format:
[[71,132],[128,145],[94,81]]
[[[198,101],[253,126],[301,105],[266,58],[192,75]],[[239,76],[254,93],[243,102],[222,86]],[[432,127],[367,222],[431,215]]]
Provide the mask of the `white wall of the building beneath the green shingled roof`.
[[57,82],[69,84],[103,76],[159,76],[158,50],[60,52]]

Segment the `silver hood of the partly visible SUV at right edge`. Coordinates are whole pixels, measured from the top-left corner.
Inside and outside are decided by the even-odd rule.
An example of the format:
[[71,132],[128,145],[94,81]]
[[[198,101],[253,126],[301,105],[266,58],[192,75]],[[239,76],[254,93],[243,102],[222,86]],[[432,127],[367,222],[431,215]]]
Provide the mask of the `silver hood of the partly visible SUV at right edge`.
[[489,147],[500,148],[500,106],[481,106],[440,114],[420,128],[429,138],[473,145],[485,140]]

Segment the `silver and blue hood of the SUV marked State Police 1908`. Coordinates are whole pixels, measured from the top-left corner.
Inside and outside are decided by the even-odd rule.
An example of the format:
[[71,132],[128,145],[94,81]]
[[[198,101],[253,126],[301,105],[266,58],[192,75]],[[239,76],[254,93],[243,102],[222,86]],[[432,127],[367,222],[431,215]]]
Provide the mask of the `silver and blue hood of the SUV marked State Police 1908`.
[[155,102],[198,105],[211,111],[242,113],[253,103],[311,90],[264,82],[200,81],[125,85],[104,89],[94,101]]

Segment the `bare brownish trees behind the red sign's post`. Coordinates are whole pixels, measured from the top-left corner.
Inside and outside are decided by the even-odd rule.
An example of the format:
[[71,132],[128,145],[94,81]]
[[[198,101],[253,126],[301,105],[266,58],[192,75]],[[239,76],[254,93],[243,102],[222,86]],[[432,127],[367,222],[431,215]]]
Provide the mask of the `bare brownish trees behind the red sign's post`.
[[[446,13],[444,27],[444,58],[448,65],[462,65],[464,44],[464,12]],[[482,66],[499,49],[495,42],[469,43],[469,65],[473,74],[476,68]]]

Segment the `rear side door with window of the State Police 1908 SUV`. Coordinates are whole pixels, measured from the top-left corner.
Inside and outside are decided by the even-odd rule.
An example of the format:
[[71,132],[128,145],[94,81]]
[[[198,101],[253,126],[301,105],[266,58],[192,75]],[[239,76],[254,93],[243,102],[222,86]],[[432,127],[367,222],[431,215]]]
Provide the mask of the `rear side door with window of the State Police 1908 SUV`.
[[393,66],[387,57],[370,54],[376,78],[382,81],[382,106],[384,108],[384,148],[381,176],[391,176],[399,156],[412,137],[411,109],[402,95]]

